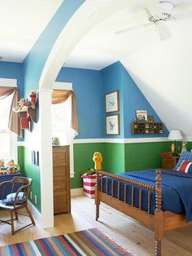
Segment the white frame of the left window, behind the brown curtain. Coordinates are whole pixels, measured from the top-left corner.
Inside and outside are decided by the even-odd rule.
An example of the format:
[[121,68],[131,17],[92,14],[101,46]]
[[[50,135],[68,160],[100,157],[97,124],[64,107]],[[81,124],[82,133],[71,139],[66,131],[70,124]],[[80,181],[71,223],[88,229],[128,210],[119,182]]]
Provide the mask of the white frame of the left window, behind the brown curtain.
[[[17,87],[17,79],[0,78],[0,86],[2,87]],[[17,135],[10,131],[10,157],[18,163],[18,143]]]

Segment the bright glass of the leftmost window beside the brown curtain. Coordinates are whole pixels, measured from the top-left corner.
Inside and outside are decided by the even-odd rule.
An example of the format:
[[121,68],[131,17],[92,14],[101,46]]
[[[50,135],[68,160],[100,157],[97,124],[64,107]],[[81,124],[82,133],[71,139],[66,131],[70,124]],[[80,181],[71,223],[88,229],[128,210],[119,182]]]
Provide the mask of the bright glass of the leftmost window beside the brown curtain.
[[16,135],[8,130],[11,100],[12,95],[5,99],[0,99],[0,159],[8,160],[13,158],[17,161]]

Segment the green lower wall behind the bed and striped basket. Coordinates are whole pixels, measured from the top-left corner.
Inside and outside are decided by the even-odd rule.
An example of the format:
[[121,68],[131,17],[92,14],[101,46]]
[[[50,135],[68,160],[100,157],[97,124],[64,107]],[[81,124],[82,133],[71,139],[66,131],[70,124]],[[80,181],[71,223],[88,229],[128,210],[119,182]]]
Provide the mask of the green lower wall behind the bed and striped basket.
[[162,167],[162,152],[170,151],[170,142],[153,143],[76,143],[74,144],[75,178],[72,188],[82,188],[81,173],[94,167],[94,152],[103,154],[103,170],[122,173]]

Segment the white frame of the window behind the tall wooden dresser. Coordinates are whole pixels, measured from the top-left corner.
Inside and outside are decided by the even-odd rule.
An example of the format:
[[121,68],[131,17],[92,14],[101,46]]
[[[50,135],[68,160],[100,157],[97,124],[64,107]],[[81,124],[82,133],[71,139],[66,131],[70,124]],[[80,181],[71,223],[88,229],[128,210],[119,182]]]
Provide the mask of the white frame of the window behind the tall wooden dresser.
[[[53,90],[72,90],[72,82],[55,82],[52,88]],[[72,132],[68,133],[69,142],[69,162],[70,162],[70,178],[75,177],[74,171],[74,154],[73,154],[73,135]]]

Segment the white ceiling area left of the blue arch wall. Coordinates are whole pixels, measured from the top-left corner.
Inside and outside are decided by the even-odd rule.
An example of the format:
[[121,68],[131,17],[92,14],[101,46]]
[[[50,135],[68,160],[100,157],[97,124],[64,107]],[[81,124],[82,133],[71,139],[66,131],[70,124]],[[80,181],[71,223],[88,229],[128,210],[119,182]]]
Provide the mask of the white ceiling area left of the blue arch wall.
[[63,0],[0,0],[0,56],[23,62]]

